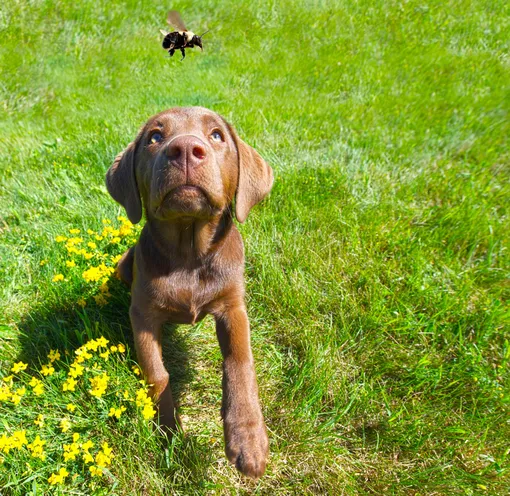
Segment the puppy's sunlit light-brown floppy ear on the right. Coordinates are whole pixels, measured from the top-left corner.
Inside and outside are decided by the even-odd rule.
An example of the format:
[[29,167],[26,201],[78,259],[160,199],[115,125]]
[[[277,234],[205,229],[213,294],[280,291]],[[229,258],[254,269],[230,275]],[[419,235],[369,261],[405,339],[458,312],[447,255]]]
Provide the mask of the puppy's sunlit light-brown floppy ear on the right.
[[262,201],[273,186],[273,169],[250,146],[247,145],[234,129],[232,136],[239,156],[239,176],[236,191],[236,217],[244,222],[251,208]]

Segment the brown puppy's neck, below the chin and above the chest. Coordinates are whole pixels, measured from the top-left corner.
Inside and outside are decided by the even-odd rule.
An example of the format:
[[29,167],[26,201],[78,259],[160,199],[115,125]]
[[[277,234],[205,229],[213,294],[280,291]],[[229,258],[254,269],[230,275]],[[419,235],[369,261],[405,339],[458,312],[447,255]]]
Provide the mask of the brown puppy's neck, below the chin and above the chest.
[[222,242],[232,226],[230,211],[212,219],[147,219],[148,235],[164,257],[178,257],[196,263],[205,259],[213,247]]

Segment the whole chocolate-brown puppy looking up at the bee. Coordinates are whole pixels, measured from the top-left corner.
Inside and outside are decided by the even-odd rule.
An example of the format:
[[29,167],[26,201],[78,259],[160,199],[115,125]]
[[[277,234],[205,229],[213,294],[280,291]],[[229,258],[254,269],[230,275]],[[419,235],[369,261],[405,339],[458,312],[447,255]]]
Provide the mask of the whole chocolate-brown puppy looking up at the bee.
[[174,108],[148,120],[106,174],[111,196],[137,223],[138,243],[119,262],[131,287],[130,317],[138,361],[158,402],[160,422],[176,416],[161,356],[165,322],[216,320],[223,354],[222,417],[228,459],[260,477],[266,427],[244,302],[244,247],[233,223],[244,222],[273,184],[273,171],[218,114]]

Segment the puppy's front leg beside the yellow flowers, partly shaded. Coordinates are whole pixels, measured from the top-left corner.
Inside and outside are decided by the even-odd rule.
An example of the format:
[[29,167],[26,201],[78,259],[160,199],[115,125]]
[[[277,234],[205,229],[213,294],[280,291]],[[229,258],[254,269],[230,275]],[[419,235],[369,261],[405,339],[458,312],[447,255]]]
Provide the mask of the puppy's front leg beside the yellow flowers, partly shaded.
[[159,422],[162,426],[175,430],[176,417],[170,376],[163,364],[161,348],[161,326],[164,318],[151,315],[150,311],[142,312],[136,306],[129,309],[136,356],[142,368],[145,380],[150,385],[150,394],[157,403]]

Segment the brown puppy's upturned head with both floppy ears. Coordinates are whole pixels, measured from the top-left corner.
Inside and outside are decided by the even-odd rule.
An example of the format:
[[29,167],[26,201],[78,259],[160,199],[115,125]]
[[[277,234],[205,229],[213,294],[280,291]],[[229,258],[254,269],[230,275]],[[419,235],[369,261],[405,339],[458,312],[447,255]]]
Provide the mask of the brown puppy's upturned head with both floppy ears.
[[271,190],[273,171],[218,114],[173,108],[151,117],[108,169],[106,186],[133,223],[142,217],[209,219],[235,198],[244,222]]

